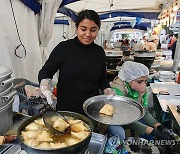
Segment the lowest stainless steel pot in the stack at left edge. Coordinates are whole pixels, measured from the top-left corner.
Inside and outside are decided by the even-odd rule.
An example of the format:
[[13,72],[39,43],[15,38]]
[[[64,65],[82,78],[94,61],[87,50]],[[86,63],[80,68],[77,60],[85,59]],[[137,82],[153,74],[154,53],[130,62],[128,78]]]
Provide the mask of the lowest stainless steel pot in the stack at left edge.
[[0,135],[4,135],[13,124],[13,100],[10,99],[3,108],[0,108]]

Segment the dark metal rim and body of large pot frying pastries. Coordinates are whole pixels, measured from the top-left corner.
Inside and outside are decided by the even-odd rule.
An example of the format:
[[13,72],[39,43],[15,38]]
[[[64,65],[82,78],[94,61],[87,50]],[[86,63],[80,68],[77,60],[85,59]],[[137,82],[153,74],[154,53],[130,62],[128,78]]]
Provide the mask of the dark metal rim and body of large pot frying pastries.
[[31,153],[31,154],[83,154],[86,149],[88,148],[90,139],[91,139],[91,135],[92,135],[92,131],[93,131],[93,124],[91,122],[91,120],[89,120],[87,117],[78,114],[78,113],[74,113],[74,112],[68,112],[68,111],[59,111],[59,113],[61,113],[64,116],[70,116],[70,117],[74,117],[75,119],[80,119],[82,121],[84,121],[87,125],[89,125],[90,127],[90,134],[81,142],[65,147],[65,148],[57,148],[57,149],[40,149],[40,148],[34,148],[34,147],[30,147],[26,144],[24,144],[23,139],[21,137],[21,131],[23,131],[25,129],[25,127],[33,122],[35,119],[41,118],[43,115],[37,115],[37,116],[33,116],[29,119],[27,119],[25,122],[23,122],[17,132],[17,137],[18,140],[21,144],[22,149],[24,149],[27,153]]

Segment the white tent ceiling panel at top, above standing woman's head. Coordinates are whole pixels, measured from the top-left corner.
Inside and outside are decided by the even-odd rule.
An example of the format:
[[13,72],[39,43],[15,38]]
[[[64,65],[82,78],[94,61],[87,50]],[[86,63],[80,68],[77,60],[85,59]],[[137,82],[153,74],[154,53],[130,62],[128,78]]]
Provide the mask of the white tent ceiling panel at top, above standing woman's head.
[[164,0],[80,0],[66,5],[74,12],[93,9],[98,13],[122,10],[160,12]]

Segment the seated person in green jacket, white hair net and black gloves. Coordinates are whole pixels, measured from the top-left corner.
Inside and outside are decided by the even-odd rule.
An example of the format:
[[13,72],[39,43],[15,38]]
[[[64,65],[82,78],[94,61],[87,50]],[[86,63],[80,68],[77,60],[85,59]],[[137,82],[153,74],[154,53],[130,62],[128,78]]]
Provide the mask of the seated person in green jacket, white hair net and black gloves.
[[[133,122],[128,127],[138,134],[150,134],[158,139],[171,139],[169,129],[160,124],[148,111],[148,96],[146,82],[149,75],[148,68],[137,62],[127,61],[122,65],[118,77],[111,83],[112,89],[119,96],[126,96],[146,108],[146,113],[140,121]],[[131,113],[129,113],[131,114]],[[118,126],[111,126],[113,133],[120,132]]]

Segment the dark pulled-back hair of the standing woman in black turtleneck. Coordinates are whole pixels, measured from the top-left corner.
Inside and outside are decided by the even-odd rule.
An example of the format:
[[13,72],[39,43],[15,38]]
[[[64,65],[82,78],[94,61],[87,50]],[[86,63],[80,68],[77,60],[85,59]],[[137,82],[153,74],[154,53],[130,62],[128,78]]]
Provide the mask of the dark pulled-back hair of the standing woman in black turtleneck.
[[78,27],[79,23],[84,19],[92,20],[96,23],[96,25],[100,28],[101,27],[101,20],[99,15],[94,10],[83,10],[78,14],[76,20],[76,27]]

